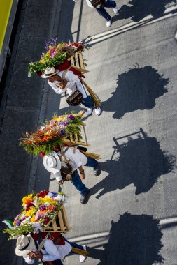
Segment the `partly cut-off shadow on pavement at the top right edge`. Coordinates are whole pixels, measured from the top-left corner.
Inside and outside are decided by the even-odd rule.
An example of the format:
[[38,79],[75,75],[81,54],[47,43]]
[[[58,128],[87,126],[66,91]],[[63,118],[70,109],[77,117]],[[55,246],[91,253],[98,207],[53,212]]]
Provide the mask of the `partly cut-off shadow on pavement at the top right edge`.
[[164,15],[165,7],[169,3],[176,3],[176,0],[132,0],[128,5],[123,5],[118,15],[113,17],[113,21],[131,18],[134,22],[139,22],[144,17],[152,15],[154,18]]

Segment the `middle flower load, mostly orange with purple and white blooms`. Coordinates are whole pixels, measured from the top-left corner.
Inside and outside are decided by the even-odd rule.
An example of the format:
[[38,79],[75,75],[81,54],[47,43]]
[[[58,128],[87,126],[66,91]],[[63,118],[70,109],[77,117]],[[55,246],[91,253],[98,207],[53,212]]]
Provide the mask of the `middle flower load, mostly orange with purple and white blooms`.
[[20,145],[28,152],[38,155],[41,152],[49,153],[57,145],[62,146],[64,139],[70,139],[70,135],[78,135],[78,140],[82,139],[80,126],[81,117],[78,114],[54,116],[47,121],[36,132],[26,132],[24,138],[20,139]]

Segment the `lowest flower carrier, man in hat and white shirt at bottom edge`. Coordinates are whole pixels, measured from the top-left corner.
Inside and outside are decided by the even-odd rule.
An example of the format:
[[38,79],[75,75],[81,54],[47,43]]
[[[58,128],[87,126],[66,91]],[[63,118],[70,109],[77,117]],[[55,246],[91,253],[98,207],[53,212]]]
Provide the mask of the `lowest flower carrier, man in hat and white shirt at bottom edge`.
[[27,264],[34,264],[36,258],[46,265],[62,265],[61,259],[70,253],[80,254],[80,262],[85,262],[89,255],[85,245],[69,242],[59,232],[21,235],[17,239],[15,253]]

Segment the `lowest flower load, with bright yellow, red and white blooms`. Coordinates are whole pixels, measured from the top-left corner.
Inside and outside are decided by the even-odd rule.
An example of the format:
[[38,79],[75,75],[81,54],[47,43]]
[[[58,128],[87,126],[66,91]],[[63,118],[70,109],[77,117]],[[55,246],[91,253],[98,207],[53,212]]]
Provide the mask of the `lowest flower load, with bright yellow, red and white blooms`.
[[22,198],[22,211],[15,217],[13,227],[3,230],[10,239],[22,234],[43,232],[61,210],[67,197],[63,192],[41,191]]

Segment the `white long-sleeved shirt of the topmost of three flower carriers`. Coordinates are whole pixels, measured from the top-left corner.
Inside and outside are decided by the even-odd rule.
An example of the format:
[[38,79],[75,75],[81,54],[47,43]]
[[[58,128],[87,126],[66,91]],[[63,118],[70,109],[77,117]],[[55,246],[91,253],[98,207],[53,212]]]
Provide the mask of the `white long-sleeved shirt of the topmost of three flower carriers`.
[[[64,71],[60,71],[57,73],[60,77],[62,77],[62,73]],[[85,89],[83,88],[83,84],[80,82],[78,79],[78,75],[74,75],[72,71],[68,71],[64,77],[67,80],[66,87],[64,89],[60,89],[59,87],[56,86],[56,84],[59,84],[60,82],[55,81],[55,82],[50,82],[48,81],[48,84],[52,87],[52,89],[57,93],[57,94],[62,94],[65,91],[71,95],[73,91],[76,91],[78,89],[82,94],[83,98],[87,98],[87,94],[85,93]],[[77,88],[76,88],[77,86]]]

